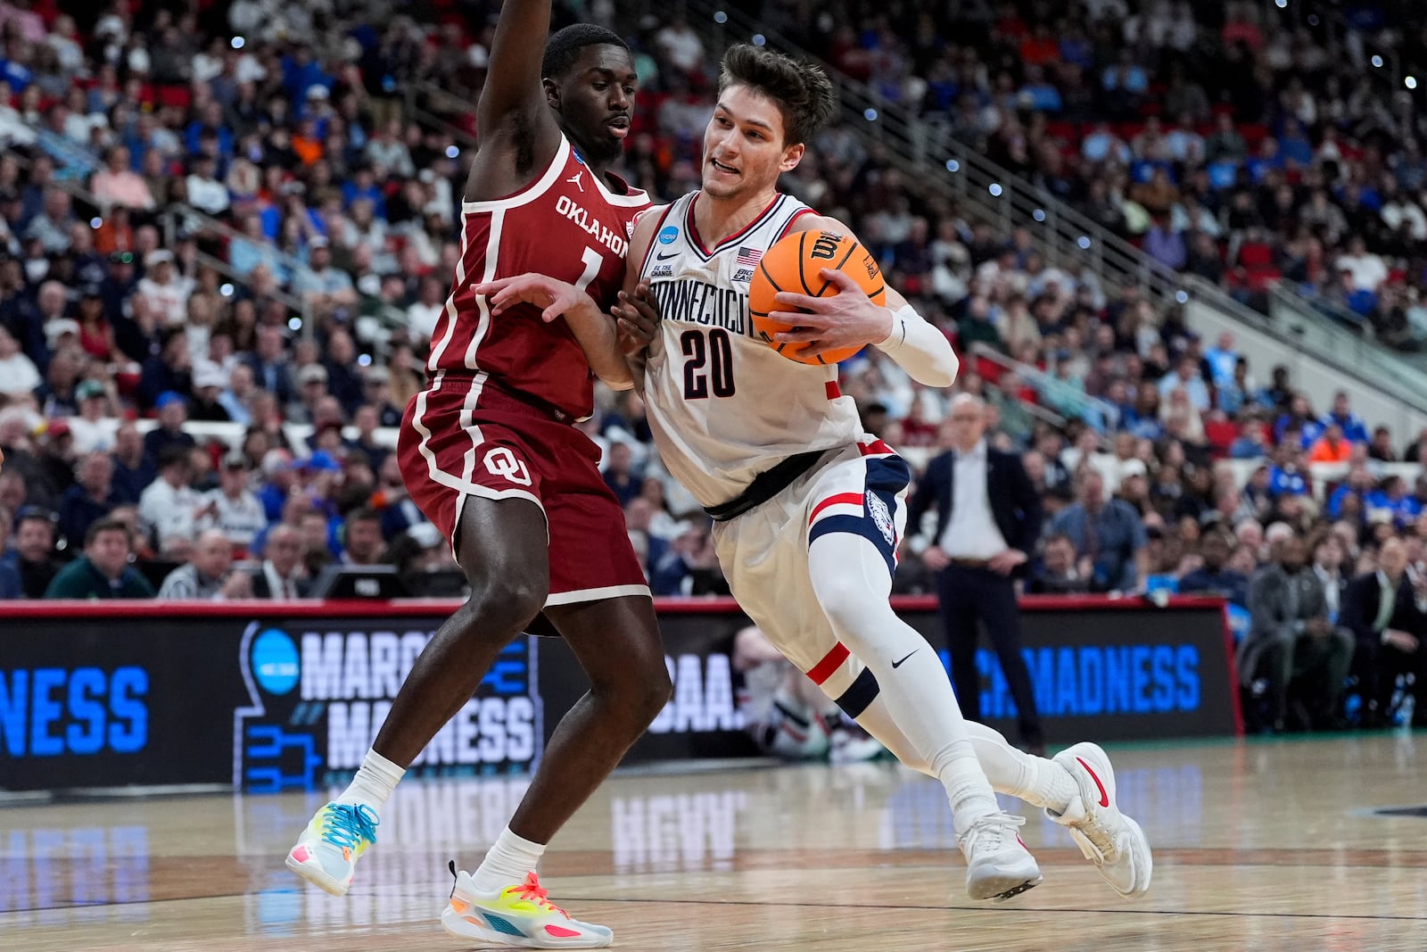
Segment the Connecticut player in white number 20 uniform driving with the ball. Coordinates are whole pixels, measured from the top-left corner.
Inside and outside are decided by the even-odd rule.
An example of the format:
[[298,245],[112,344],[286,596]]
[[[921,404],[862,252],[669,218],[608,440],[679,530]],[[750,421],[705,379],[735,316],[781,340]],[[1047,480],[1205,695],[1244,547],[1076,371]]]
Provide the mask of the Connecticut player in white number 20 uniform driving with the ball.
[[[704,137],[704,187],[645,213],[629,243],[621,327],[654,328],[631,360],[659,454],[715,520],[735,598],[768,638],[896,756],[946,788],[969,865],[968,895],[1003,899],[1040,882],[993,788],[1046,808],[1122,895],[1149,888],[1150,849],[1114,805],[1109,758],[1077,744],[1049,761],[965,721],[936,652],[888,595],[910,471],[862,431],[836,367],[785,360],[755,337],[748,283],[763,251],[802,230],[849,234],[778,193],[803,143],[833,108],[826,76],[768,50],[735,46]],[[638,271],[635,270],[638,267]],[[809,354],[875,345],[922,384],[948,387],[946,337],[893,288],[878,307],[846,275],[839,294],[781,294],[796,324],[778,341]],[[492,305],[549,313],[588,295],[541,275],[481,285]]]

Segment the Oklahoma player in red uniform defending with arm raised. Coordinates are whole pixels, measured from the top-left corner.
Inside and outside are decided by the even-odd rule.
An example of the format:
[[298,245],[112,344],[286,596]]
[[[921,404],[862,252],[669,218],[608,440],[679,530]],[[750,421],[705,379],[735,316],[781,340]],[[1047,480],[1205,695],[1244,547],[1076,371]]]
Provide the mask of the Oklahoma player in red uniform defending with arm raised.
[[[469,601],[401,687],[347,791],[314,816],[287,865],[342,895],[375,842],[378,814],[497,654],[537,615],[569,644],[589,692],[555,729],[509,825],[474,875],[457,876],[448,932],[488,945],[602,948],[612,933],[545,898],[545,844],[609,775],[671,695],[644,569],[599,450],[575,428],[592,374],[632,385],[608,311],[642,191],[609,174],[629,133],[629,49],[589,24],[561,30],[541,59],[551,0],[505,0],[477,104],[479,148],[465,186],[461,260],[412,398],[398,455],[412,498],[448,535]],[[482,281],[541,271],[598,308],[492,314]]]

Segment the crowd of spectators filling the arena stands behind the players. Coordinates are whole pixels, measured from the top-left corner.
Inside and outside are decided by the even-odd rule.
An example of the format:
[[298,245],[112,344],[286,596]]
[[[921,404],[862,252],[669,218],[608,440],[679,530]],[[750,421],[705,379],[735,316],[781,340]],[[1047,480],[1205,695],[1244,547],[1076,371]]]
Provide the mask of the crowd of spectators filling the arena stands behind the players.
[[[494,23],[497,4],[434,3],[420,23],[381,3],[200,6],[0,3],[0,597],[301,597],[330,564],[454,565],[384,428],[424,384],[458,257],[475,130],[447,97],[478,90],[491,27],[469,24]],[[718,50],[679,14],[615,21],[608,0],[582,13],[636,54],[629,177],[662,198],[696,187]],[[759,10],[1162,263],[1256,304],[1281,277],[1411,347],[1427,338],[1420,111],[1364,66],[1371,11],[1351,30],[1290,13]],[[1396,565],[1394,545],[1394,578],[1427,592],[1427,480],[1380,470],[1420,461],[1427,432],[1368,428],[1341,395],[1310,405],[1232,337],[1200,340],[1137,288],[1053,267],[1025,230],[920,194],[845,126],[818,136],[785,188],[852,223],[956,343],[958,391],[985,398],[992,440],[1023,452],[1047,515],[1030,591],[1224,594],[1247,612],[1243,644],[1261,648],[1284,578],[1313,575],[1326,621],[1279,628],[1311,628],[1317,667],[1344,664],[1323,625],[1354,632],[1359,665],[1374,639],[1413,654],[1381,635],[1398,628],[1343,615],[1341,597]],[[949,445],[950,393],[872,350],[842,375],[866,427],[915,465]],[[1093,420],[1086,395],[1103,401]],[[654,591],[725,592],[706,518],[659,465],[638,397],[601,390],[581,425]],[[1310,462],[1346,475],[1316,485]],[[899,591],[929,589],[918,528]],[[1427,637],[1427,611],[1401,632]],[[1303,672],[1246,652],[1246,689],[1279,725],[1276,685]],[[1390,697],[1359,697],[1363,721],[1390,715]],[[1344,711],[1294,714],[1324,725]]]

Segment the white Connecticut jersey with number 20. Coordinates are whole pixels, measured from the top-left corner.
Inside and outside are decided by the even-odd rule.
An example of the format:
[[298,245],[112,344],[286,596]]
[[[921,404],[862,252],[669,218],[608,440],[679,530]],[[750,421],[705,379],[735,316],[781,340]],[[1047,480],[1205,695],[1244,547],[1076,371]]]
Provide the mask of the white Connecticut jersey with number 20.
[[671,204],[639,265],[664,315],[645,368],[659,455],[701,505],[736,498],[785,457],[856,442],[856,402],[836,365],[799,364],[755,337],[748,284],[763,253],[811,208],[779,194],[746,228],[709,248],[694,191]]

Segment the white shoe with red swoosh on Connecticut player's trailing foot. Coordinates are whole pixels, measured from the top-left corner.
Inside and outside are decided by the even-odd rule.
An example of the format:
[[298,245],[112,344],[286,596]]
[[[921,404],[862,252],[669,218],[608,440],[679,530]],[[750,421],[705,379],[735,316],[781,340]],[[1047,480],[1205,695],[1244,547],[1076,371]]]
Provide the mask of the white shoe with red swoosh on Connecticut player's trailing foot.
[[1154,859],[1150,841],[1133,819],[1114,802],[1114,769],[1110,758],[1096,744],[1076,744],[1055,755],[1080,788],[1063,814],[1046,811],[1070,832],[1085,858],[1096,865],[1100,876],[1122,896],[1139,896],[1150,888]]

